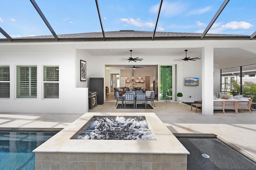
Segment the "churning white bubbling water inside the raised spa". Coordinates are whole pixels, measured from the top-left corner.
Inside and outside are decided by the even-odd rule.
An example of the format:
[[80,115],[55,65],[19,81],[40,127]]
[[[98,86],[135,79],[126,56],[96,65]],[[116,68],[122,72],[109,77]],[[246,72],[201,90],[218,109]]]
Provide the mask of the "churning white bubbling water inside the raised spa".
[[144,117],[94,117],[73,139],[156,140]]

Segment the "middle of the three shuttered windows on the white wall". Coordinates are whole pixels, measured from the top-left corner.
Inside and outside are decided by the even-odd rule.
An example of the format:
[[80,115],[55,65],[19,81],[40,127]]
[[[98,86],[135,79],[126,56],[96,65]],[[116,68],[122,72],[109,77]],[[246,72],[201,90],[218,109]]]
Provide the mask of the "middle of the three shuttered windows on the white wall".
[[37,67],[17,66],[17,98],[37,97]]

